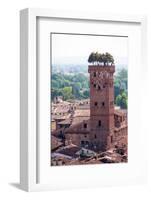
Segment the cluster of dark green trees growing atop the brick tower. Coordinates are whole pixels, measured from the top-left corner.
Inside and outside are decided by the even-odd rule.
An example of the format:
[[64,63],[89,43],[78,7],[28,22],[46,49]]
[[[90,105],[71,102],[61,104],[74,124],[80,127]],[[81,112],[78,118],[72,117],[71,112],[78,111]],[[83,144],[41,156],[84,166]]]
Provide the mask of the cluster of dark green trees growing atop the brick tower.
[[105,54],[104,53],[98,53],[98,52],[92,52],[90,55],[89,55],[89,58],[88,58],[88,62],[89,63],[92,63],[93,65],[94,64],[97,64],[97,65],[109,65],[109,64],[114,64],[114,58],[113,56],[106,52]]

